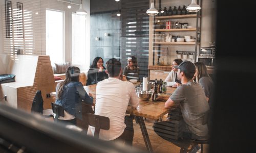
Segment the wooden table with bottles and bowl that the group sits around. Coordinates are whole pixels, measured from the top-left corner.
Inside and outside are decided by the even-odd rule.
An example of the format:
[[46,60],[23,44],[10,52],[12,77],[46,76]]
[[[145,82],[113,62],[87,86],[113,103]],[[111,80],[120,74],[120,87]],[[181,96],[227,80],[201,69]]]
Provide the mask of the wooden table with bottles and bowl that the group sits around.
[[[96,85],[90,85],[90,86],[84,86],[84,89],[87,93],[91,93],[94,98],[94,106],[95,106],[95,99],[96,99]],[[172,94],[176,88],[174,87],[167,87],[167,94]],[[126,113],[130,115],[134,115],[136,122],[139,123],[140,129],[143,135],[143,139],[147,148],[147,151],[153,152],[150,138],[148,137],[144,118],[150,118],[154,120],[158,120],[159,118],[163,117],[165,114],[168,113],[168,109],[164,108],[164,102],[169,98],[170,95],[167,94],[161,94],[159,95],[158,101],[153,102],[152,98],[148,101],[139,100],[139,106],[136,109],[133,109],[132,107],[128,106]],[[56,97],[56,92],[50,93],[52,97]],[[97,104],[96,104],[97,107]],[[79,126],[79,125],[78,125]]]

